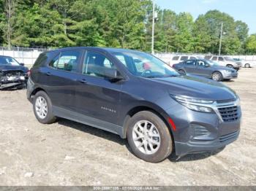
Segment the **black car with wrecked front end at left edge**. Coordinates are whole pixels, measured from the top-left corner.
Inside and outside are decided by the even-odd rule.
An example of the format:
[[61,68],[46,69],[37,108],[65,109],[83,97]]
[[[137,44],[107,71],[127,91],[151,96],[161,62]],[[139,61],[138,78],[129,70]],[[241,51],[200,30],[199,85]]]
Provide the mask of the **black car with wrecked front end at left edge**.
[[0,90],[26,87],[28,68],[10,56],[0,55]]

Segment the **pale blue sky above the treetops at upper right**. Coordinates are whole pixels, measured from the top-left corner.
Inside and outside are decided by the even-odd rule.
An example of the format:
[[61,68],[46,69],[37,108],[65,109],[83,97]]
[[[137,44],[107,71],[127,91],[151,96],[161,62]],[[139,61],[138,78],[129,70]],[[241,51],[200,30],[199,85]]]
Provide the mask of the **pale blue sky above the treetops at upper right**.
[[162,9],[176,13],[189,12],[194,20],[208,10],[217,9],[242,20],[249,26],[249,34],[256,34],[256,0],[155,0]]

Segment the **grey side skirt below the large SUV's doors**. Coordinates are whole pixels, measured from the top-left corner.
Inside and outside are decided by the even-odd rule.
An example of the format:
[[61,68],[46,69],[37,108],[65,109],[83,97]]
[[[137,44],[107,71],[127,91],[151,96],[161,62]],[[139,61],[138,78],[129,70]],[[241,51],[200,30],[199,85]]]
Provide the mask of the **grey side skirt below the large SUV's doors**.
[[107,130],[111,133],[118,134],[123,138],[123,127],[115,125],[110,122],[105,122],[102,120],[95,119],[94,117],[88,117],[86,115],[80,114],[78,112],[72,112],[67,109],[63,109],[58,106],[53,106],[53,114],[56,117],[62,117],[67,120],[72,120],[75,122],[83,123],[84,125],[89,125],[94,128],[99,128],[102,130]]

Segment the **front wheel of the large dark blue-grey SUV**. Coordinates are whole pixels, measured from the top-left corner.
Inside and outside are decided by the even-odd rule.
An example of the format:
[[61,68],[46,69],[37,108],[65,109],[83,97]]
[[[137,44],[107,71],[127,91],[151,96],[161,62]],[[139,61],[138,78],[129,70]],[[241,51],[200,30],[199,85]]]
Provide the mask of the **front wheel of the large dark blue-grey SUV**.
[[[144,131],[143,135],[143,130],[145,130],[146,122],[148,122],[146,129],[149,131],[149,135],[146,131]],[[140,128],[138,124],[140,124]],[[141,130],[141,128],[143,128],[143,130]],[[152,129],[152,131],[150,129]],[[154,136],[152,136],[150,132]],[[141,136],[143,136],[143,139],[138,139],[136,141],[135,138]],[[170,131],[167,128],[167,125],[165,125],[165,122],[163,122],[162,119],[153,112],[138,112],[129,120],[127,139],[129,142],[129,146],[132,149],[132,152],[137,157],[146,160],[147,162],[159,163],[162,160],[165,160],[165,158],[168,157],[171,152],[173,152],[173,139],[170,135]],[[139,147],[140,144],[142,144],[141,147]]]

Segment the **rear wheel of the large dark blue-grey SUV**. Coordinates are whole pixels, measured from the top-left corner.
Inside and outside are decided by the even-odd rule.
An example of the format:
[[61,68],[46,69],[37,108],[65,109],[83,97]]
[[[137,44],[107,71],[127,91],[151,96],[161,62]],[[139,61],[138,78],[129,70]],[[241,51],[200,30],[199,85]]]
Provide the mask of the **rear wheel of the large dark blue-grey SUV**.
[[[43,105],[40,104],[40,101],[41,103],[43,103]],[[41,106],[40,108],[42,108],[43,106],[45,107],[40,110],[39,106]],[[33,109],[34,115],[37,117],[37,120],[42,124],[50,124],[56,121],[56,117],[53,115],[50,98],[44,91],[39,91],[36,95],[34,95]],[[42,113],[42,115],[40,115],[40,113]]]

